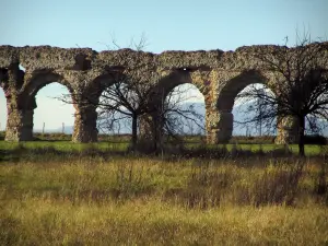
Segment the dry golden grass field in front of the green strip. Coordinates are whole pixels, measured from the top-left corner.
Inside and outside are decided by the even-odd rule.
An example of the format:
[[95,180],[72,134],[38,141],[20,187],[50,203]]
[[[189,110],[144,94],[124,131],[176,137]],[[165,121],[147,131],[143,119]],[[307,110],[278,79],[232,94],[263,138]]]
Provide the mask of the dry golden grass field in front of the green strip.
[[325,245],[324,164],[145,157],[2,163],[0,245]]

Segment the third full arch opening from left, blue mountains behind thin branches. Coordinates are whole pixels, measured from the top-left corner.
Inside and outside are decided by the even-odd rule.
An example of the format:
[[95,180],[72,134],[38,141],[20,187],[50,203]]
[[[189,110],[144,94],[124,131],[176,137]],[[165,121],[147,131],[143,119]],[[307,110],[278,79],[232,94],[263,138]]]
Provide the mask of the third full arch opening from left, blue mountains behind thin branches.
[[161,127],[163,134],[197,136],[199,138],[194,139],[200,141],[206,134],[206,102],[201,84],[192,80],[192,72],[183,68],[163,78],[151,104],[162,105],[166,114],[168,125],[164,122]]

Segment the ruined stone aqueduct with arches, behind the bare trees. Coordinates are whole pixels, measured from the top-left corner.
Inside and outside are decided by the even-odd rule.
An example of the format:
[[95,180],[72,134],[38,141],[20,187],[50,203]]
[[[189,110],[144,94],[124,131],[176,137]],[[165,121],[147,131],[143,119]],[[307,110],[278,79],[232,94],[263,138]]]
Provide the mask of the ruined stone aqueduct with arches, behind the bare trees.
[[[35,95],[43,86],[59,82],[72,95],[101,96],[99,85],[113,83],[109,75],[113,71],[119,72],[119,68],[138,62],[142,68],[140,73],[147,74],[149,83],[157,91],[168,93],[177,85],[195,84],[204,95],[208,142],[226,142],[233,130],[235,96],[251,83],[274,83],[261,62],[255,59],[255,54],[279,48],[250,46],[235,51],[164,51],[156,55],[131,49],[96,52],[90,48],[0,46],[0,85],[8,107],[5,139],[32,140],[33,112],[37,106]],[[120,57],[125,57],[124,62]],[[20,65],[26,70],[20,70]],[[153,80],[152,74],[156,74]],[[72,99],[77,102],[73,141],[96,141],[96,108],[78,98]],[[279,133],[280,142],[289,141],[291,134],[295,134],[293,124],[283,126]]]

